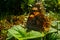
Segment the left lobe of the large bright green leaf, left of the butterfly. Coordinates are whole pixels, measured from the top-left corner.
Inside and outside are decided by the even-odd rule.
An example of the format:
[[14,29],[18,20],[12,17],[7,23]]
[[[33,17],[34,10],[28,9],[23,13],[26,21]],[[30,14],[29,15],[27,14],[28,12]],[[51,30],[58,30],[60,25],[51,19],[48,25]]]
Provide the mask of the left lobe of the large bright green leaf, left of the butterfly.
[[8,32],[17,39],[26,36],[26,29],[22,28],[20,25],[13,26]]

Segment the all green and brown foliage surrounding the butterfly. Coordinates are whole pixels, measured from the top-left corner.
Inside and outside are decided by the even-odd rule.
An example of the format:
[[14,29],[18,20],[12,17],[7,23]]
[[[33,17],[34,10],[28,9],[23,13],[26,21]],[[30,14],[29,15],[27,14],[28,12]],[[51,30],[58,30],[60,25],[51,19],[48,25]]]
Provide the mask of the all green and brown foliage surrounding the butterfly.
[[25,14],[30,12],[36,0],[0,0],[0,19],[3,19],[0,20],[0,40],[6,40],[7,36],[7,40],[60,40],[60,0],[42,2],[46,15],[52,20],[49,32],[27,32],[27,29],[22,28],[27,20]]

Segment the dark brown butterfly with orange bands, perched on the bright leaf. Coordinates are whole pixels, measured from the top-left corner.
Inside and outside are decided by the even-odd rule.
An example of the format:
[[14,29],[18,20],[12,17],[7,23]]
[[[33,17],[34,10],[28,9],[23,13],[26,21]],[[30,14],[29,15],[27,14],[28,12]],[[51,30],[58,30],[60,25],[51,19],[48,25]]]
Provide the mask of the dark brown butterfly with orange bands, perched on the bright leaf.
[[50,21],[47,16],[41,11],[41,4],[37,3],[31,8],[31,13],[28,17],[26,27],[28,30],[48,31]]

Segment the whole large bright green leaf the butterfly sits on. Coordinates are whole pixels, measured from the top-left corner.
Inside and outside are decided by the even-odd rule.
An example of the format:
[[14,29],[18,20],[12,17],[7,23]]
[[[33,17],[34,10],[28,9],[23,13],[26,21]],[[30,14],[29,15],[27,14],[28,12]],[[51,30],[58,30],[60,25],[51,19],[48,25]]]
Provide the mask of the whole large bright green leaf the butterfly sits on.
[[[22,28],[20,25],[13,26],[11,29],[8,30],[8,33],[11,34],[11,37],[13,36],[19,40],[44,37],[45,35],[44,33],[37,31],[26,32],[26,29]],[[8,37],[8,39],[11,38],[10,36]]]

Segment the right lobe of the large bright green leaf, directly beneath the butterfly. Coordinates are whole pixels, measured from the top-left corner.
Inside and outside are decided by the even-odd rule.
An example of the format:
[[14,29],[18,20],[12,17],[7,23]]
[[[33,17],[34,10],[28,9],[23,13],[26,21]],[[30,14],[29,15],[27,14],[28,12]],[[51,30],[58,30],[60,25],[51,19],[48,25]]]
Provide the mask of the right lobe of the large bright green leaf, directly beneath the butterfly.
[[27,33],[26,39],[33,39],[33,38],[39,38],[39,37],[44,37],[45,34],[43,32],[37,32],[37,31],[30,31]]

